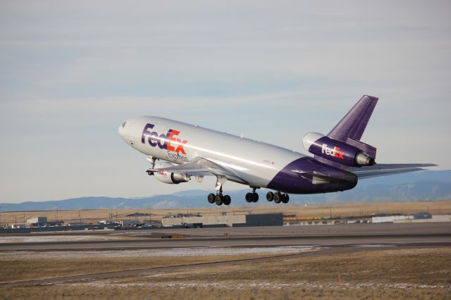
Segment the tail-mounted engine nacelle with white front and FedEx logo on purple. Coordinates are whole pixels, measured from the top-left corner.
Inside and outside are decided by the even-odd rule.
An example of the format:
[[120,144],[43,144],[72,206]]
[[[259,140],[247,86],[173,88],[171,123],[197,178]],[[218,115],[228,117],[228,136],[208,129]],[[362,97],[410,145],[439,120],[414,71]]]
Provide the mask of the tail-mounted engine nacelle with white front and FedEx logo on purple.
[[330,139],[330,137],[318,132],[309,132],[304,135],[302,144],[311,154],[342,165],[361,167],[362,165],[374,165],[376,163],[374,158],[364,154],[361,149],[336,139]]

